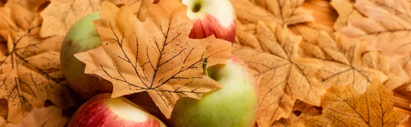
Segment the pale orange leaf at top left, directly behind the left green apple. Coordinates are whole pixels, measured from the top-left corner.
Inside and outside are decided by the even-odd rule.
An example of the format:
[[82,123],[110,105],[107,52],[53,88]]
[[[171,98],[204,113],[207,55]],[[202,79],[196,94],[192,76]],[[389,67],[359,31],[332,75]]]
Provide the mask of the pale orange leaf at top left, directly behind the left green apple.
[[40,12],[42,27],[40,37],[64,36],[71,26],[83,16],[99,11],[101,0],[50,0]]

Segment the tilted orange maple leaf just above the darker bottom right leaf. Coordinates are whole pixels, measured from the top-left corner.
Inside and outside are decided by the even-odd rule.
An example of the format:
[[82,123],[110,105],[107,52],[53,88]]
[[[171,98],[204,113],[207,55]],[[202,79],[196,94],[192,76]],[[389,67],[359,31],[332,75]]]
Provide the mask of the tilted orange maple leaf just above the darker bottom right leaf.
[[362,63],[373,61],[373,59],[362,59],[364,53],[360,43],[350,43],[336,33],[336,41],[329,33],[317,29],[311,25],[295,25],[298,33],[301,33],[304,41],[300,44],[304,57],[320,59],[323,68],[316,72],[324,88],[332,85],[351,84],[355,89],[364,92],[366,87],[374,79],[380,81],[388,80],[384,72],[364,66]]

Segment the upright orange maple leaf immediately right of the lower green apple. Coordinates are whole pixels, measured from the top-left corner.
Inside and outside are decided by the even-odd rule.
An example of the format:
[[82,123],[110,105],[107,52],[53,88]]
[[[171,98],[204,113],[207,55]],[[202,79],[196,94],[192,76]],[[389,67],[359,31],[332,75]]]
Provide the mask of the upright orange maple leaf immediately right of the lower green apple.
[[[314,72],[322,67],[315,59],[299,57],[301,37],[286,29],[262,21],[256,27],[256,38],[262,51],[234,44],[232,53],[256,70],[260,80],[260,121],[269,126],[281,117],[288,117],[296,99],[319,105],[325,89]],[[262,60],[264,59],[264,60]]]

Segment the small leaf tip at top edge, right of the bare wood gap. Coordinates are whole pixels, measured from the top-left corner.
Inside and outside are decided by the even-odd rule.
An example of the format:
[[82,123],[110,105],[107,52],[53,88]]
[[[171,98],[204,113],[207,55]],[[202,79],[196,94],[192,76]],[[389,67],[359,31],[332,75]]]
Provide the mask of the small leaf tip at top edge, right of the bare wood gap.
[[349,20],[364,17],[354,8],[353,0],[332,0],[329,4],[338,12],[338,18],[334,23],[336,31],[347,27]]

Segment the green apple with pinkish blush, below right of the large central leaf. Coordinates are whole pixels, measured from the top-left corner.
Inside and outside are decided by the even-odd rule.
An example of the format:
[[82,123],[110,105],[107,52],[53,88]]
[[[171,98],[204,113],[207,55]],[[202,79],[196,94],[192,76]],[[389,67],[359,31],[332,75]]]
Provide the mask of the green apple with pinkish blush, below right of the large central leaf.
[[180,98],[171,114],[173,126],[250,127],[258,115],[258,86],[249,68],[232,55],[227,64],[208,68],[209,76],[221,89],[201,100]]

